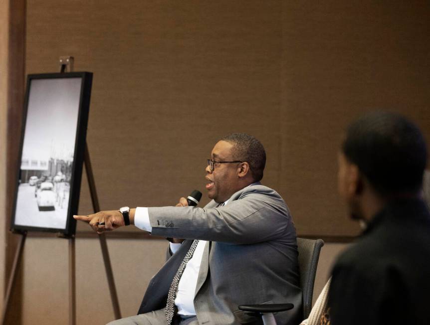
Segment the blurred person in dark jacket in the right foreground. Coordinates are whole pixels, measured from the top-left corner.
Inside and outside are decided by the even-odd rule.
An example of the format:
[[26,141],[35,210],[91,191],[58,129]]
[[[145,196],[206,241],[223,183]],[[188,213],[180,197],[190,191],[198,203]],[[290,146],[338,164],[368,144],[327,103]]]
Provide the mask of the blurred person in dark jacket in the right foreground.
[[333,269],[332,325],[430,324],[426,163],[420,130],[400,115],[375,112],[349,127],[339,191],[365,230]]

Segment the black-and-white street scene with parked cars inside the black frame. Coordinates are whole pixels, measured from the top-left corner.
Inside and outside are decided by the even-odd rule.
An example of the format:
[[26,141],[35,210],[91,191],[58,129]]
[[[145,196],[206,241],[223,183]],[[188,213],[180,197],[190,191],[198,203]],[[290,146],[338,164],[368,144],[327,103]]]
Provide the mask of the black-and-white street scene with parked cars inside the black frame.
[[15,225],[66,227],[80,91],[80,78],[31,81]]

